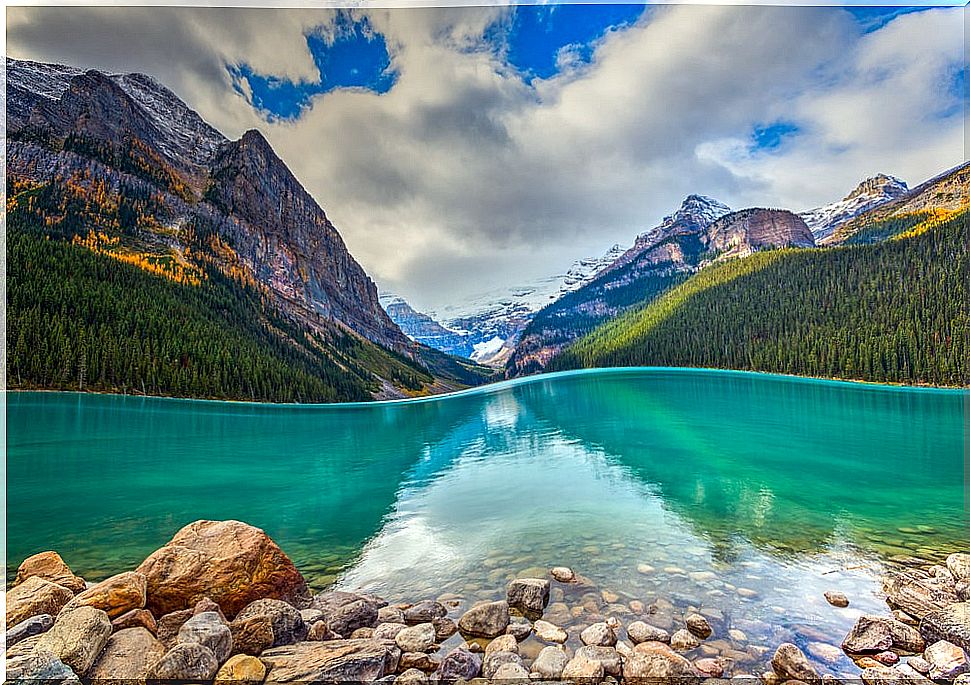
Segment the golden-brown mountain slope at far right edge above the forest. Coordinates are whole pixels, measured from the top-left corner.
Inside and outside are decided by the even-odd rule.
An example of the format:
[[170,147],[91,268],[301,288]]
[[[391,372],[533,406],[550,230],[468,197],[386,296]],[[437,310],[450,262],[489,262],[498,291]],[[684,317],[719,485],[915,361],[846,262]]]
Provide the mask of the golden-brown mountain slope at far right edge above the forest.
[[944,171],[907,193],[839,224],[822,245],[870,244],[970,205],[970,162]]

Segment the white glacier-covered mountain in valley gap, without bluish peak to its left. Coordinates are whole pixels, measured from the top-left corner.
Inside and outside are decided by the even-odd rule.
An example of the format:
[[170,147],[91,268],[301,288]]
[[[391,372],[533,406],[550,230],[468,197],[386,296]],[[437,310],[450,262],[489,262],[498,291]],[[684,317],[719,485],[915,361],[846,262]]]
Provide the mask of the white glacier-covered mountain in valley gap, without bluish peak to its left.
[[[532,316],[563,295],[581,288],[600,270],[623,254],[614,245],[600,257],[574,262],[564,273],[509,288],[499,288],[466,299],[460,305],[443,307],[429,313],[433,319],[459,336],[453,354],[468,350],[464,356],[489,366],[504,366]],[[393,318],[393,315],[392,315]],[[400,322],[399,322],[400,323]],[[432,347],[437,345],[429,341]],[[445,340],[438,349],[451,351]]]

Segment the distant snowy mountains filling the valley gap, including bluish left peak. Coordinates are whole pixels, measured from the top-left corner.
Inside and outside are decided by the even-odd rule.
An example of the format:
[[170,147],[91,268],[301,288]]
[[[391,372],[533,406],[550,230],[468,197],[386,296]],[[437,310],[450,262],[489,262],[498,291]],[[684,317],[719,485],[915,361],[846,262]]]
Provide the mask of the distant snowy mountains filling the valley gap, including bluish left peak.
[[624,251],[620,245],[614,245],[600,257],[574,262],[565,273],[483,292],[426,314],[416,312],[392,293],[381,295],[381,304],[414,340],[481,364],[500,366],[537,311],[583,287]]

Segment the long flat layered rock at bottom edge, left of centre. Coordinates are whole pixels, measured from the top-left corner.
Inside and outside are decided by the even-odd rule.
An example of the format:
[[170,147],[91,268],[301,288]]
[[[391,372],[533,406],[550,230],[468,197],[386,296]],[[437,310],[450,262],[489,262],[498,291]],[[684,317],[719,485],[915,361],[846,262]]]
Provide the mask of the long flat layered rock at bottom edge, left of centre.
[[400,658],[397,647],[379,640],[298,642],[273,647],[260,657],[269,669],[267,683],[377,680],[394,673]]

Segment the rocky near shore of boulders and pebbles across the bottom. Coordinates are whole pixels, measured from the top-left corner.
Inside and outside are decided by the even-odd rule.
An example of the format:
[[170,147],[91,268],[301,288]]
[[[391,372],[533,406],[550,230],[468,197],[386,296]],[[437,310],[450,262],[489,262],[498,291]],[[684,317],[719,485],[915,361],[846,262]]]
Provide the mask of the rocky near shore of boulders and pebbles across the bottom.
[[[97,584],[75,576],[55,552],[25,560],[7,593],[7,677],[970,681],[967,553],[949,555],[945,565],[914,558],[887,570],[885,610],[859,615],[844,639],[811,625],[793,632],[784,616],[772,626],[780,630],[758,636],[755,621],[664,597],[622,598],[582,569],[529,573],[509,575],[498,601],[440,594],[391,604],[363,591],[311,594],[262,530],[196,521],[136,569]],[[833,612],[853,603],[838,587],[824,596]]]

